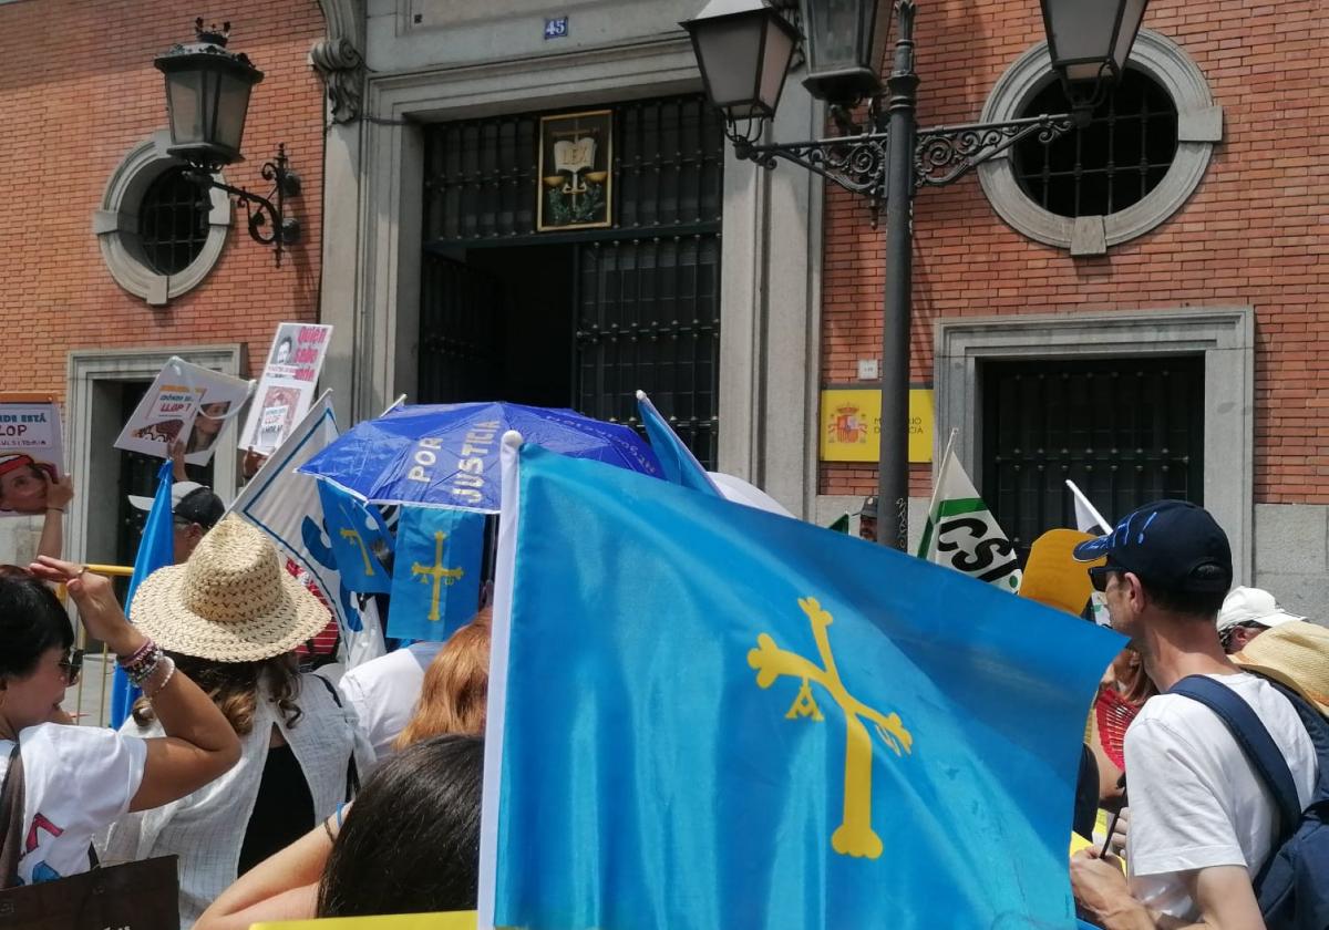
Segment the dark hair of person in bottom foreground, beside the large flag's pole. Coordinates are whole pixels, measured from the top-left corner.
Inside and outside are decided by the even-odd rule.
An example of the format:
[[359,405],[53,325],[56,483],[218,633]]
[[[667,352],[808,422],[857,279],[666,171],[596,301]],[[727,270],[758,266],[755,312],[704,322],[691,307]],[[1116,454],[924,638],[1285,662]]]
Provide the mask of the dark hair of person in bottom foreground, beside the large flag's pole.
[[436,736],[364,784],[319,882],[319,917],[474,910],[484,740]]

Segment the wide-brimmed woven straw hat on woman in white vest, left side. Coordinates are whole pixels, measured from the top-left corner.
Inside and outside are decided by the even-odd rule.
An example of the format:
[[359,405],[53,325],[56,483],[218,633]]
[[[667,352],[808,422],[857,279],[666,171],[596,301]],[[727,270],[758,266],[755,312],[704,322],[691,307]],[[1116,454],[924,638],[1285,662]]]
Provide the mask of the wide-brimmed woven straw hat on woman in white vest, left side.
[[145,578],[130,615],[163,650],[214,662],[283,655],[330,616],[282,567],[267,535],[235,515],[213,527],[185,565]]

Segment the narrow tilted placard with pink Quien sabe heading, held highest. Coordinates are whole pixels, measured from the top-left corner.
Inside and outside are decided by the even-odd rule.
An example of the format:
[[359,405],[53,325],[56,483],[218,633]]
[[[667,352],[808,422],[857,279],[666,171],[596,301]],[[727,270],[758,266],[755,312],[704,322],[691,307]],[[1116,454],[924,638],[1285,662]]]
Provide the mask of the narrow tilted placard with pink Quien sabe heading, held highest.
[[278,324],[258,393],[239,436],[241,449],[270,454],[304,417],[331,335],[330,326]]

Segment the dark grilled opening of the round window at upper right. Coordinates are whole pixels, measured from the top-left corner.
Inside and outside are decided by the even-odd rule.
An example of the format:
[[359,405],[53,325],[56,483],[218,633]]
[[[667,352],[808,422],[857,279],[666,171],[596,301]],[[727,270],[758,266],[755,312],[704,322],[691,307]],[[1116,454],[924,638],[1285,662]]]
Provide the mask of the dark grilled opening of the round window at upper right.
[[[1066,113],[1059,81],[1035,94],[1021,116]],[[1037,137],[1014,149],[1015,179],[1045,210],[1062,217],[1119,213],[1158,187],[1176,155],[1176,105],[1156,81],[1128,68],[1090,124],[1050,145]]]

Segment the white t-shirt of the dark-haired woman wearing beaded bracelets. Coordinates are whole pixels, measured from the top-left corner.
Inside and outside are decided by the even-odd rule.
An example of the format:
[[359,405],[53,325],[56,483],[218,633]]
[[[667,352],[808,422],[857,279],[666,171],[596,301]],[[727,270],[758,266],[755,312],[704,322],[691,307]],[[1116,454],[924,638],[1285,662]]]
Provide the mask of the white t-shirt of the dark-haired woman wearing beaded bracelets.
[[[148,744],[101,727],[44,723],[19,733],[23,756],[24,856],[19,881],[86,872],[93,833],[129,810],[144,780]],[[0,740],[0,776],[13,740]]]

